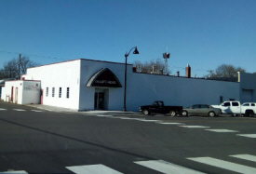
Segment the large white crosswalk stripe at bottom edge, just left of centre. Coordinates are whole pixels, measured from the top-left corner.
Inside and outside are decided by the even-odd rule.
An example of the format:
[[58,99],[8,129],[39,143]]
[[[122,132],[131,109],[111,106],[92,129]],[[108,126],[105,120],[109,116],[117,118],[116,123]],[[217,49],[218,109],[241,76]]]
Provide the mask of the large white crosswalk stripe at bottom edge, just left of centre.
[[122,174],[121,172],[104,165],[74,166],[66,168],[77,174]]

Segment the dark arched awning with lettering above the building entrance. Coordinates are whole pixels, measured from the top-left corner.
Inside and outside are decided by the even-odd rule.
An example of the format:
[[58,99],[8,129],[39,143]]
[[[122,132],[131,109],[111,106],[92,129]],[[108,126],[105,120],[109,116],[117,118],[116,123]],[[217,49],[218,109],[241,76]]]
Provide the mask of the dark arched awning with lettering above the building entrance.
[[122,87],[118,78],[108,68],[102,68],[88,80],[87,87]]

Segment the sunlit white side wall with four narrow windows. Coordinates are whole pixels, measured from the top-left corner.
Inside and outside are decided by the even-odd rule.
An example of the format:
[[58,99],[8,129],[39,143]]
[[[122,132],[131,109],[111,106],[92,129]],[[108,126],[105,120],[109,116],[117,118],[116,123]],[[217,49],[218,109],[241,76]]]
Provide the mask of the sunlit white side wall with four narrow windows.
[[[29,68],[25,78],[41,80],[41,87],[44,90],[43,104],[78,110],[80,60],[70,60]],[[46,96],[47,87],[48,96]],[[52,87],[55,87],[54,97],[52,97]],[[60,87],[61,98],[59,98]],[[66,98],[67,87],[70,87],[69,99]]]

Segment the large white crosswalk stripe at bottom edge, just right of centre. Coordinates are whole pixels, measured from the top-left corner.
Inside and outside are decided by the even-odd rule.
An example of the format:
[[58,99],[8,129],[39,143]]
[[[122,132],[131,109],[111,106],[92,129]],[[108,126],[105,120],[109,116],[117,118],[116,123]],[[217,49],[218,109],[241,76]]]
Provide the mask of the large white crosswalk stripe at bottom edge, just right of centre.
[[163,160],[137,161],[134,163],[141,165],[143,167],[149,167],[151,169],[154,169],[165,174],[203,174],[200,171],[196,171],[194,169],[187,167],[178,166]]

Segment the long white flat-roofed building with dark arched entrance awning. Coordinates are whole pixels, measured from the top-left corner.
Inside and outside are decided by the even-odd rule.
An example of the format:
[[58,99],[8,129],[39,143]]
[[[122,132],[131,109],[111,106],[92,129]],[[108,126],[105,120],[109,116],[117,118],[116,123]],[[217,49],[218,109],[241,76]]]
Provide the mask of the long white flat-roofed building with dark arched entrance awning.
[[[190,72],[187,74],[190,75]],[[139,106],[154,100],[168,105],[190,106],[196,103],[219,104],[223,100],[256,100],[256,74],[239,74],[237,82],[199,78],[140,74],[128,64],[127,110],[138,111]],[[38,84],[39,93],[25,93],[28,99],[17,103],[43,103],[74,110],[123,110],[125,64],[100,60],[69,60],[34,68],[21,76],[19,83]],[[28,81],[29,80],[29,81]],[[41,84],[40,84],[41,82]],[[16,86],[6,82],[2,100],[14,94]],[[38,92],[38,91],[37,91]],[[19,97],[18,97],[19,99]]]

